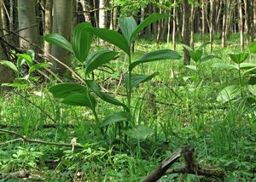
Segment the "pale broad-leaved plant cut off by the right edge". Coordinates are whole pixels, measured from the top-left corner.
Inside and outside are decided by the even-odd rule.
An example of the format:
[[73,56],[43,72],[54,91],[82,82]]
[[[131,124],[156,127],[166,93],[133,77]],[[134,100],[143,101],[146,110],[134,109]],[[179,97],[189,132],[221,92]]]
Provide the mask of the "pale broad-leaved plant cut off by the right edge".
[[[249,50],[251,53],[256,53],[256,43],[252,43],[249,46]],[[220,91],[218,94],[217,100],[221,103],[229,102],[230,100],[236,99],[239,95],[245,93],[245,91],[249,91],[251,94],[256,95],[256,65],[253,63],[245,63],[247,60],[249,53],[242,52],[240,54],[229,54],[230,60],[236,65],[231,65],[227,63],[214,63],[212,64],[213,68],[217,69],[226,69],[228,71],[237,71],[237,79],[238,83],[230,84]],[[242,72],[243,71],[243,72]],[[249,77],[247,82],[243,82],[244,78]]]

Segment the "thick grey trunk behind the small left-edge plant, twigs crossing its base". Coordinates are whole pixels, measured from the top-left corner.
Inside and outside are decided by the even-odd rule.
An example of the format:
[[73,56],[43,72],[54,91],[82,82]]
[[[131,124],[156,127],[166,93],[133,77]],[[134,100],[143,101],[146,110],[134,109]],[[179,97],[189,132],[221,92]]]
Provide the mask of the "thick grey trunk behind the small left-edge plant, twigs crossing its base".
[[24,29],[19,31],[19,36],[27,40],[19,38],[20,48],[37,49],[37,47],[32,46],[32,44],[38,46],[39,43],[38,25],[36,24],[36,2],[36,0],[18,1],[19,29]]

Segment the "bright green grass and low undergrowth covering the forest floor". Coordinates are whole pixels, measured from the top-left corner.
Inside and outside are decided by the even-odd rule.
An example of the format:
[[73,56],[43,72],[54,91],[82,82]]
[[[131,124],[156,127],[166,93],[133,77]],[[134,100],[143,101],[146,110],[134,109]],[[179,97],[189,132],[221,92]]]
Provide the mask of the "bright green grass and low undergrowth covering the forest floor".
[[[195,47],[201,44],[199,37],[195,40]],[[166,43],[142,40],[137,43],[137,54],[132,59],[145,53],[145,48],[149,51],[166,47]],[[181,49],[178,44],[177,51],[182,54]],[[182,60],[138,67],[137,72],[159,71],[160,75],[134,89],[131,105],[136,108],[135,121],[151,129],[145,138],[131,137],[127,143],[119,140],[119,129],[114,125],[108,127],[108,137],[103,138],[96,129],[91,111],[59,104],[48,92],[50,83],[36,86],[28,92],[15,90],[15,94],[10,91],[1,98],[0,121],[20,128],[6,129],[15,130],[30,139],[55,142],[70,143],[76,137],[84,148],[72,152],[70,148],[22,142],[1,145],[0,171],[10,173],[26,168],[32,173],[31,180],[139,181],[172,151],[183,145],[193,145],[197,161],[222,167],[229,175],[235,175],[238,181],[256,180],[255,97],[251,102],[245,97],[230,105],[220,105],[216,101],[217,95],[230,82],[236,82],[236,72],[214,70],[210,66],[213,62],[229,62],[228,54],[238,50],[237,35],[230,37],[227,48],[220,48],[217,40],[213,54],[218,54],[222,60],[201,64],[197,78],[195,72],[183,66]],[[102,82],[110,76],[118,78],[117,72],[125,72],[123,65],[127,60],[124,62],[123,59],[124,56],[120,55],[119,60],[111,63],[113,73],[97,71],[96,81]],[[249,61],[255,62],[254,57]],[[172,78],[171,71],[174,72]],[[116,93],[119,100],[123,99],[120,94],[125,94],[125,90],[116,88],[118,80],[103,83],[103,86],[109,85],[109,90]],[[154,93],[156,97],[156,116],[147,111],[147,100],[143,100],[147,92]],[[24,95],[26,100],[20,95]],[[97,110],[102,119],[119,107],[99,100]],[[57,128],[43,128],[44,124],[52,123],[44,112],[54,119]],[[73,128],[67,128],[67,123],[73,124]],[[1,142],[10,139],[15,139],[15,136],[0,135]],[[176,165],[180,164],[177,162]],[[160,181],[177,178],[178,175],[173,174]],[[189,175],[186,181],[199,179]]]

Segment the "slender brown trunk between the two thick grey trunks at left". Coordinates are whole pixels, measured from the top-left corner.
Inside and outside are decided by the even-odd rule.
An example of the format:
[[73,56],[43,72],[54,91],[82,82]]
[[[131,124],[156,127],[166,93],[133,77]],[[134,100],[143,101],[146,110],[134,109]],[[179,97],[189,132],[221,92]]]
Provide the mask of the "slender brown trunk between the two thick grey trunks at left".
[[[53,9],[53,0],[45,0],[44,5],[44,35],[47,35],[52,32],[52,9]],[[50,43],[44,42],[44,53],[51,53]]]

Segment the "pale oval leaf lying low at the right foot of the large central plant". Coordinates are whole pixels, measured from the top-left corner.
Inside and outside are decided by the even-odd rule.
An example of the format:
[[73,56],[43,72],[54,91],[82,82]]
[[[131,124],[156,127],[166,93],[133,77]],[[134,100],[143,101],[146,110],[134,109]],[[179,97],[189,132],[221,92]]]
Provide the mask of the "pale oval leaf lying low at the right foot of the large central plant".
[[148,136],[154,134],[154,131],[148,126],[138,125],[128,130],[126,134],[128,134],[133,139],[147,139]]

